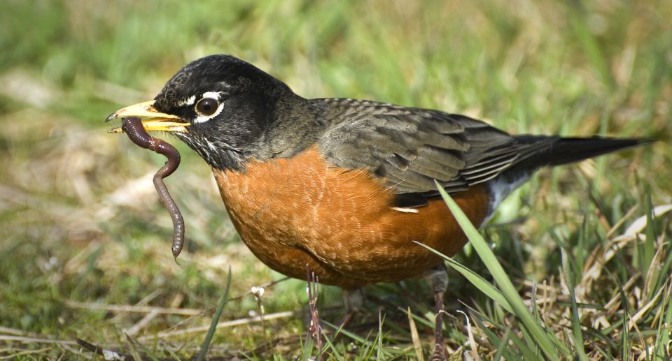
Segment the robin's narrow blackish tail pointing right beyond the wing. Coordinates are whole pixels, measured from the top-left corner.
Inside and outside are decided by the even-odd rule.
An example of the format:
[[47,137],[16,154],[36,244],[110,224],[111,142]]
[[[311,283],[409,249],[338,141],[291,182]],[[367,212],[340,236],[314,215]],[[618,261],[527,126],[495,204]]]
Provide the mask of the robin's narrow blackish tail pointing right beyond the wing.
[[[561,165],[582,161],[584,159],[601,156],[622,149],[638,147],[654,142],[645,138],[559,138],[538,135],[517,135],[515,140],[521,144],[530,145],[532,152],[521,159],[521,168],[538,168],[545,165]],[[514,165],[518,168],[518,165]]]

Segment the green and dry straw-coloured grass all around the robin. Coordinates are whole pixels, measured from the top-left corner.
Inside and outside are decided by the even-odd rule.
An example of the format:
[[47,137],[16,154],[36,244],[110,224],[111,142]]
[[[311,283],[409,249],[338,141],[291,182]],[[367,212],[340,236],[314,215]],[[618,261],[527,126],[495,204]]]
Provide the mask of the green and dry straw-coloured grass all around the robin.
[[[205,163],[169,139],[183,155],[167,185],[188,238],[176,265],[170,219],[151,184],[164,159],[102,123],[153,98],[187,61],[225,52],[307,97],[460,112],[512,133],[658,138],[543,170],[510,196],[480,232],[493,256],[467,246],[450,263],[458,268],[444,332],[454,359],[464,351],[669,358],[670,18],[672,4],[654,0],[8,1],[0,12],[0,355],[92,357],[76,339],[156,358],[196,355],[229,267],[223,325],[207,356],[317,355],[303,323],[305,283],[280,281],[245,248]],[[491,271],[494,261],[503,271]],[[249,292],[272,281],[263,294]],[[320,314],[336,323],[339,292],[320,289]],[[426,284],[367,294],[370,315],[325,336],[325,355],[405,360],[420,344],[427,359]],[[489,297],[498,294],[506,301]]]

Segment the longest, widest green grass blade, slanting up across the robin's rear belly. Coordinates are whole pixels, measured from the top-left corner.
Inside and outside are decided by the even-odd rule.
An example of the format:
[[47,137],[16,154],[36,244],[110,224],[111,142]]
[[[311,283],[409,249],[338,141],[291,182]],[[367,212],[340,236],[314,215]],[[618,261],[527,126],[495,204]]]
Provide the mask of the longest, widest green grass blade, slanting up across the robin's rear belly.
[[520,295],[518,295],[518,291],[513,286],[513,283],[507,277],[502,265],[500,265],[496,256],[486,244],[485,240],[483,240],[483,237],[479,235],[478,230],[476,230],[471,221],[469,221],[464,212],[462,212],[462,209],[460,209],[457,203],[452,198],[450,198],[448,193],[443,189],[442,186],[440,186],[438,182],[435,182],[435,184],[437,186],[437,190],[439,193],[441,193],[442,198],[448,205],[450,212],[461,226],[465,235],[467,235],[470,244],[472,244],[475,251],[478,253],[478,256],[492,274],[493,279],[495,279],[499,285],[503,295],[511,304],[511,307],[514,310],[514,314],[520,318],[522,324],[529,330],[531,337],[533,337],[534,341],[536,344],[538,344],[544,355],[546,355],[546,357],[551,360],[558,360],[559,354],[557,351],[560,351],[564,357],[570,358],[571,353],[567,346],[561,344],[554,334],[544,330],[539,325],[538,320],[535,320],[534,316],[532,316]]

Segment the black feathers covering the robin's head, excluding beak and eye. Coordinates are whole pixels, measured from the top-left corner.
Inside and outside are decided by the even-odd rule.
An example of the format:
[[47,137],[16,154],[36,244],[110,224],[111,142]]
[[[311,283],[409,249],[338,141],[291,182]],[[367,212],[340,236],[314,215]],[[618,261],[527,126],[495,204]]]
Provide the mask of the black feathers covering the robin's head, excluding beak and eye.
[[[217,111],[197,112],[203,98],[215,98]],[[287,109],[300,110],[305,99],[252,64],[230,55],[210,55],[187,64],[156,96],[154,107],[190,122],[176,136],[218,169],[243,170],[248,159],[277,154],[268,139]],[[287,106],[288,103],[292,105]],[[283,126],[286,128],[286,126]],[[274,141],[282,136],[274,135]]]

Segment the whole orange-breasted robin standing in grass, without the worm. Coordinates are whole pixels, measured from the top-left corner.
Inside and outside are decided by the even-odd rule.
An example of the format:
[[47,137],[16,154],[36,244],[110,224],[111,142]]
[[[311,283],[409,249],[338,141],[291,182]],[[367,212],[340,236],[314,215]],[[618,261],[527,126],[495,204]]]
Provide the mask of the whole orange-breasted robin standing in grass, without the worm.
[[214,174],[241,240],[288,277],[344,290],[427,277],[442,353],[442,258],[467,238],[437,189],[474,226],[540,168],[643,145],[643,138],[511,135],[440,110],[353,98],[304,98],[247,61],[214,54],[179,70],[152,101],[106,120],[140,117],[185,142]]

